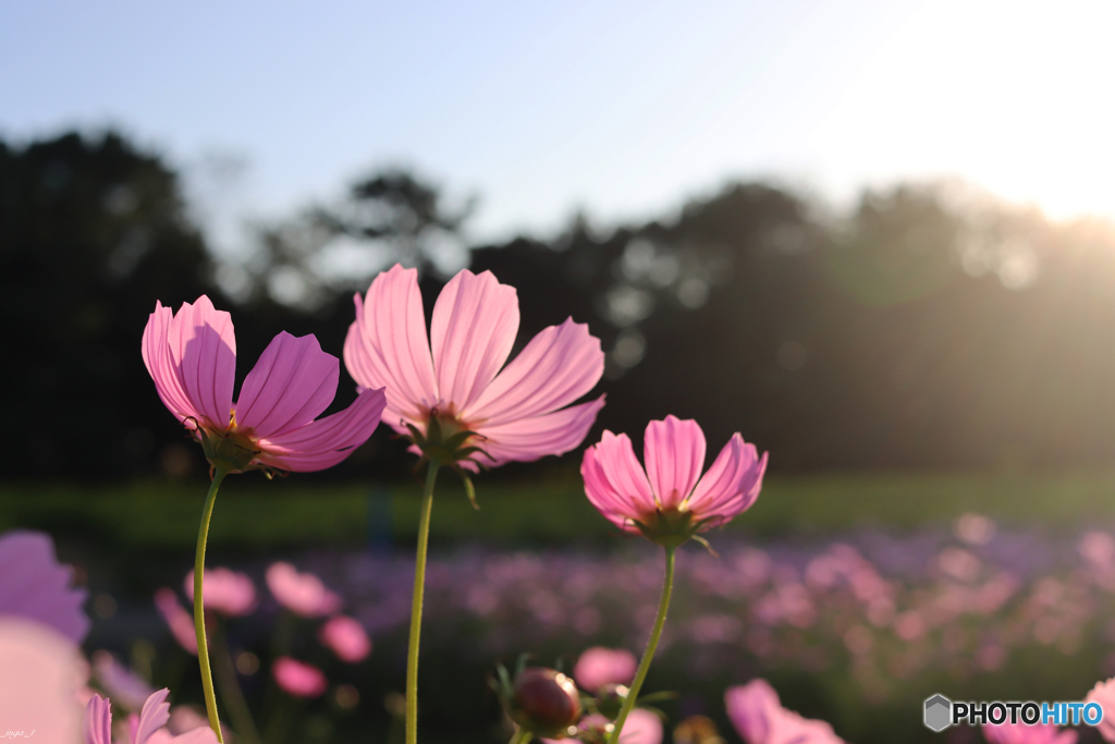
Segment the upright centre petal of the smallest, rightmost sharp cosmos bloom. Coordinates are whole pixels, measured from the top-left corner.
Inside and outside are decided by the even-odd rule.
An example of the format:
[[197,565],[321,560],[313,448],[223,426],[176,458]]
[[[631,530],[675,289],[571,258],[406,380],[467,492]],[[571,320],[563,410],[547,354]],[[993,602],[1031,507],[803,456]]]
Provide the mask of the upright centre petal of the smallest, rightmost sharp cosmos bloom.
[[647,424],[642,452],[659,505],[677,506],[692,493],[705,467],[705,433],[695,421],[667,416]]

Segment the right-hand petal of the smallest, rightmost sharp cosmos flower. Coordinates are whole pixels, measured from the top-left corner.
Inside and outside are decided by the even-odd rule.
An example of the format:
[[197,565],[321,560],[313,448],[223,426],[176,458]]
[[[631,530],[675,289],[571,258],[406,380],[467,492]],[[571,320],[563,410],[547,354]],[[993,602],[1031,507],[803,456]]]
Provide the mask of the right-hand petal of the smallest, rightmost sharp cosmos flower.
[[763,487],[766,463],[766,453],[759,460],[754,445],[733,434],[694,490],[690,511],[699,519],[715,518],[715,523],[723,523],[749,509]]

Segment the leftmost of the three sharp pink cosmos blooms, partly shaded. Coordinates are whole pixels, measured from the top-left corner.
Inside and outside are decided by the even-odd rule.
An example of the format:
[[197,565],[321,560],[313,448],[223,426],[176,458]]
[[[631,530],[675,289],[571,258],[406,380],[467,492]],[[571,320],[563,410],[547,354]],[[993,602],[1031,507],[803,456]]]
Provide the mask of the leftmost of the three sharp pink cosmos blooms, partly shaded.
[[366,389],[345,410],[314,421],[332,403],[340,365],[313,336],[285,331],[264,349],[233,403],[232,319],[205,296],[183,303],[177,315],[155,303],[143,359],[158,396],[206,444],[206,456],[213,458],[211,445],[231,443],[222,460],[234,465],[232,472],[331,467],[363,444],[384,410],[382,389]]

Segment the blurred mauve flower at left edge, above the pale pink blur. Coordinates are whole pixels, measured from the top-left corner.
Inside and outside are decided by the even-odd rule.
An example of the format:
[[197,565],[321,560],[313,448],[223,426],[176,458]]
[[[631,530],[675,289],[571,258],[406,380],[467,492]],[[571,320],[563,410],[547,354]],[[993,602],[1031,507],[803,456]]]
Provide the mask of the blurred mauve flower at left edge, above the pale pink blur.
[[81,609],[86,591],[70,588],[72,573],[55,559],[49,535],[6,533],[0,537],[0,616],[37,620],[80,644],[89,631],[89,618]]

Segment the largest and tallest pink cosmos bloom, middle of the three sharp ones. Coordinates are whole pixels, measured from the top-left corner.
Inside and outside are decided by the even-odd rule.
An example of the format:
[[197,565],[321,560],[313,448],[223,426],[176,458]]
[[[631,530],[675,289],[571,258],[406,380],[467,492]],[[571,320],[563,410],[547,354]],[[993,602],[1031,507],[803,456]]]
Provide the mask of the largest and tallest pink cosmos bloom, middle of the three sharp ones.
[[601,396],[564,407],[604,370],[600,340],[572,318],[540,332],[504,367],[518,331],[518,298],[491,272],[464,270],[449,280],[428,338],[416,270],[396,264],[355,300],[345,364],[359,385],[387,387],[384,422],[400,434],[410,424],[428,436],[436,415],[446,434],[476,432],[468,444],[487,453],[485,465],[529,462],[578,446],[604,405]]

